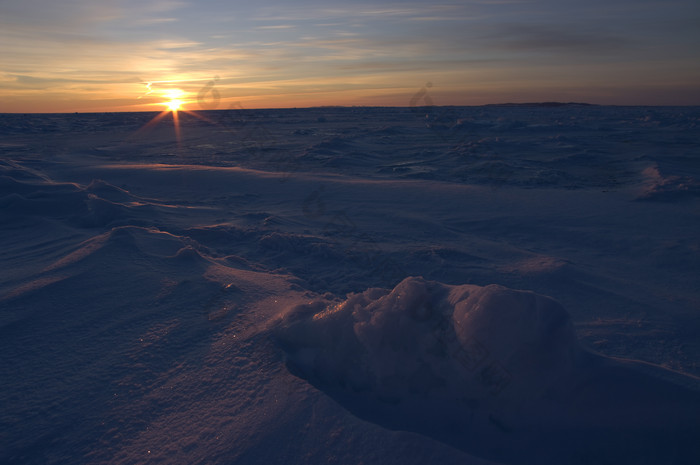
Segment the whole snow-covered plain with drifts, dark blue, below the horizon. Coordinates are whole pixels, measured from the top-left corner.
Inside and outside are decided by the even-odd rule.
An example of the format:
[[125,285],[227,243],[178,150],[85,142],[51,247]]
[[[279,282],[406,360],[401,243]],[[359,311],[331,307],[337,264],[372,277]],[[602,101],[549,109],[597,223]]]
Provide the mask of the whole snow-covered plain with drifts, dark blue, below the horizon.
[[700,463],[700,108],[154,116],[0,115],[0,463]]

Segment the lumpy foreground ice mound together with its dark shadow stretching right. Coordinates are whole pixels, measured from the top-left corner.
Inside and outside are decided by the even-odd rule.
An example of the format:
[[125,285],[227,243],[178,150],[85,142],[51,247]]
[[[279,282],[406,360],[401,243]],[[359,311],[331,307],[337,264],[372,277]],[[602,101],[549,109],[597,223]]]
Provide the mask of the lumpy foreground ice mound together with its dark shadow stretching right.
[[586,351],[566,310],[533,292],[410,277],[290,308],[276,337],[292,373],[357,416],[490,460],[700,458],[697,390]]

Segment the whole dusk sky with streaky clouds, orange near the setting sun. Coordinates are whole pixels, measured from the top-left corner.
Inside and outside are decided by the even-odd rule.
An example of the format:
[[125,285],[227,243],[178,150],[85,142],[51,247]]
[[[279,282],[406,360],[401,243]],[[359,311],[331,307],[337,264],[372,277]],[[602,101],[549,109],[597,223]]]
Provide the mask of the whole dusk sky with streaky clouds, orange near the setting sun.
[[700,105],[698,0],[0,0],[0,112]]

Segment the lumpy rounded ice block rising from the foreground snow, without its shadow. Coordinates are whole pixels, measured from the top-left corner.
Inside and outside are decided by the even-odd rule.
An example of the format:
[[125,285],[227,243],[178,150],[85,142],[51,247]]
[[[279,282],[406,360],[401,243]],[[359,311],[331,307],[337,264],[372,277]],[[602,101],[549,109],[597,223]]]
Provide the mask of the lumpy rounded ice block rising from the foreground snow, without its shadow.
[[312,382],[397,400],[543,395],[577,350],[568,314],[549,298],[416,277],[390,292],[297,306],[279,338]]

